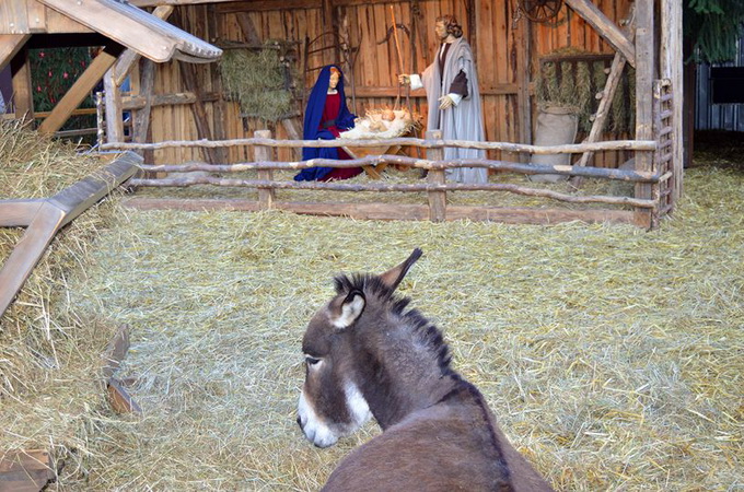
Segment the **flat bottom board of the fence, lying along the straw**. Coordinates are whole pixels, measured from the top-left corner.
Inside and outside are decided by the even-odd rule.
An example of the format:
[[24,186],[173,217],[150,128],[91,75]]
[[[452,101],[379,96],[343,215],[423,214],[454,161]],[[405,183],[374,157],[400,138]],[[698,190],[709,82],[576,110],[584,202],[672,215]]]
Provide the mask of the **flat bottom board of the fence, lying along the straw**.
[[[245,199],[175,199],[128,198],[123,204],[137,210],[187,210],[187,211],[258,211],[255,200]],[[358,220],[426,221],[429,207],[410,203],[346,203],[346,202],[286,202],[277,201],[274,208],[309,215],[348,216]],[[570,210],[527,209],[477,206],[449,206],[447,221],[474,220],[510,224],[555,224],[583,221],[588,223],[635,223],[632,212],[625,210]],[[637,224],[639,225],[639,224]],[[640,226],[644,226],[640,224]]]

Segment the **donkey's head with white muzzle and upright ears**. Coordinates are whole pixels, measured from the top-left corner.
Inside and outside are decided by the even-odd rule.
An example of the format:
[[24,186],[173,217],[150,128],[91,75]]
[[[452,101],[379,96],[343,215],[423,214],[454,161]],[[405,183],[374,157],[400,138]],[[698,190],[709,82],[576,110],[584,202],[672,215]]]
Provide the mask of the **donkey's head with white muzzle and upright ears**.
[[[319,447],[357,431],[370,418],[370,408],[352,379],[352,329],[380,317],[381,298],[390,297],[408,269],[419,259],[416,248],[403,263],[360,282],[336,279],[336,296],[313,316],[302,339],[305,384],[300,395],[298,423]],[[345,281],[346,280],[346,281]]]

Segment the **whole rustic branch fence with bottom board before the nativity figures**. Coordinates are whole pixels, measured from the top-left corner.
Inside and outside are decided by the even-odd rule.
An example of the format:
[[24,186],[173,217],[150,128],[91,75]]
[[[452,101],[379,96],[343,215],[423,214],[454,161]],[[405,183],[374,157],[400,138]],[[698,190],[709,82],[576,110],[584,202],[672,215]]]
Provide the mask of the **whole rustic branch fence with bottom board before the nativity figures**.
[[[654,136],[655,137],[655,136]],[[586,222],[626,222],[642,227],[655,226],[659,222],[660,198],[659,194],[648,196],[581,196],[578,194],[560,192],[550,189],[532,188],[513,184],[486,183],[458,184],[446,183],[445,172],[455,167],[485,167],[488,169],[531,174],[558,174],[567,176],[592,177],[630,181],[637,185],[646,185],[651,189],[658,189],[659,183],[664,176],[654,169],[651,171],[626,171],[615,168],[600,168],[580,165],[530,165],[519,162],[479,160],[454,160],[443,159],[444,148],[457,147],[465,149],[498,150],[511,153],[527,154],[584,154],[588,152],[629,150],[637,155],[647,155],[648,160],[654,160],[659,153],[658,140],[617,140],[604,142],[589,142],[567,145],[538,147],[508,142],[473,142],[461,140],[443,140],[441,132],[427,132],[426,139],[397,138],[386,140],[275,140],[266,130],[256,131],[252,139],[233,140],[196,140],[196,141],[163,141],[156,143],[125,143],[113,142],[102,145],[104,150],[162,150],[168,148],[225,148],[225,147],[253,147],[255,161],[239,164],[207,164],[191,163],[181,165],[143,165],[142,169],[158,173],[187,173],[205,171],[213,174],[237,173],[244,171],[257,171],[257,179],[234,179],[217,176],[198,177],[165,177],[165,178],[133,178],[129,181],[132,187],[187,187],[196,185],[213,185],[218,187],[247,187],[258,189],[258,200],[247,201],[240,199],[153,199],[135,198],[130,204],[138,208],[179,208],[188,210],[204,209],[240,209],[261,210],[278,208],[291,210],[298,213],[349,215],[359,219],[388,219],[388,220],[492,220],[513,223],[554,223],[571,220]],[[298,162],[278,162],[272,159],[272,149],[304,147],[315,148],[391,148],[415,147],[427,151],[426,159],[416,159],[403,155],[369,155],[363,159],[347,161],[336,160],[310,160]],[[654,160],[655,161],[655,160]],[[415,184],[390,184],[390,183],[317,183],[275,180],[274,171],[299,171],[314,166],[327,167],[359,167],[377,166],[380,164],[398,164],[414,168],[428,171],[426,183]],[[409,203],[309,203],[309,202],[279,202],[276,199],[277,189],[317,189],[333,191],[376,191],[376,192],[427,192],[428,206]],[[646,189],[636,186],[636,189]],[[571,203],[604,203],[608,206],[632,207],[632,210],[618,209],[530,209],[530,208],[498,208],[498,207],[465,207],[446,203],[446,192],[455,190],[486,190],[504,191],[515,195],[544,197],[557,201]]]

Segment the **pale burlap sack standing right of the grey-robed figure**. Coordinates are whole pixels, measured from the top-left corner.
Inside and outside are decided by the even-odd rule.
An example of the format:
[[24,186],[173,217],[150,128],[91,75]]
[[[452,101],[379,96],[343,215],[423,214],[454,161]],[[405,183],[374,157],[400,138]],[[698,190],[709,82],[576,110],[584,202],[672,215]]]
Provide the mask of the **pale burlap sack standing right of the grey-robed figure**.
[[[573,143],[579,129],[579,116],[571,108],[559,106],[540,107],[537,112],[537,128],[535,129],[535,145],[563,145]],[[570,165],[571,155],[533,155],[532,164],[538,165]],[[569,176],[559,174],[534,174],[533,181],[558,183]]]

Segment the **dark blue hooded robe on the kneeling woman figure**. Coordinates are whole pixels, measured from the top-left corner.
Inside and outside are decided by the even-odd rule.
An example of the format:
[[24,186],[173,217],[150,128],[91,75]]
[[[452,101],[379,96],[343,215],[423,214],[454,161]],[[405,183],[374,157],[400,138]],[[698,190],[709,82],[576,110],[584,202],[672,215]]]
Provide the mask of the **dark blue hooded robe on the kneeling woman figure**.
[[[307,99],[307,107],[305,107],[305,120],[302,129],[302,138],[304,140],[334,140],[336,137],[328,130],[322,129],[321,119],[323,117],[323,109],[325,107],[325,98],[328,93],[328,82],[330,80],[330,67],[336,67],[340,72],[341,69],[335,65],[323,67],[321,74],[317,75],[317,81],[313,86]],[[336,86],[340,96],[341,107],[336,117],[336,127],[342,130],[353,128],[353,120],[357,118],[346,106],[346,94],[344,93],[344,72],[338,79]],[[338,159],[338,149],[336,148],[304,148],[302,149],[302,160],[309,161],[311,159]],[[333,167],[309,167],[302,169],[297,176],[295,181],[312,181],[325,177],[330,173]]]

